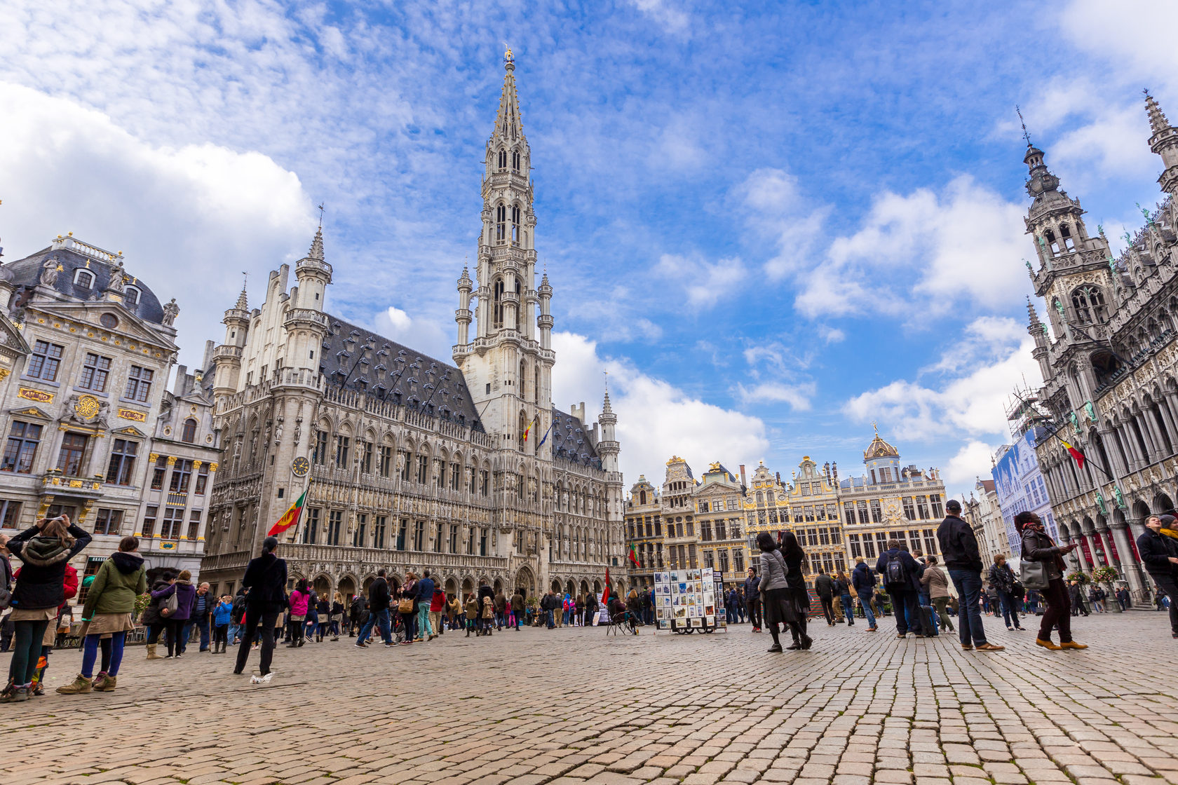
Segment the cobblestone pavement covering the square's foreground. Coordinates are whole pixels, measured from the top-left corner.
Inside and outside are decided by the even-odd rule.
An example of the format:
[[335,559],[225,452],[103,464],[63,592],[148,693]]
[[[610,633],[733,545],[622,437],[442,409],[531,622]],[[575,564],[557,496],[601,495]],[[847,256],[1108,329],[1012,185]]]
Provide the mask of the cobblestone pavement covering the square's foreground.
[[[0,706],[0,783],[1178,783],[1163,613],[1077,619],[1084,652],[992,618],[1005,652],[884,621],[820,621],[813,651],[783,654],[747,625],[345,638],[280,647],[256,687],[230,674],[232,647],[151,663],[134,647],[115,692]],[[79,661],[54,653],[51,686]]]

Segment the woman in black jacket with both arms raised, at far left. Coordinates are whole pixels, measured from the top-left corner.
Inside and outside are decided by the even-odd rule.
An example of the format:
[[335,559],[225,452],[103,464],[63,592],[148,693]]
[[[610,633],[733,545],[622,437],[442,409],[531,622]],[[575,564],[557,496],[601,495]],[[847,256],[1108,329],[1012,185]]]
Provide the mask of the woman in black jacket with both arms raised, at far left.
[[0,691],[0,703],[28,700],[45,631],[57,621],[58,606],[65,601],[66,566],[91,539],[90,533],[61,515],[42,518],[8,540],[8,552],[24,566],[12,592],[13,653],[8,686]]

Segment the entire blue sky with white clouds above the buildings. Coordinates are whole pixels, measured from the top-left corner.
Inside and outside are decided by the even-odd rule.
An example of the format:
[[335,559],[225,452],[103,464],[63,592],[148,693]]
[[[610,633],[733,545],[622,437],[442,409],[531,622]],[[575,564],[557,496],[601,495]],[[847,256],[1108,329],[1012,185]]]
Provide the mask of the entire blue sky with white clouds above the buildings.
[[1176,22],[1084,0],[18,0],[0,235],[8,260],[71,229],[124,251],[178,298],[194,364],[239,271],[302,257],[325,201],[329,308],[449,357],[509,44],[556,404],[596,412],[610,371],[628,484],[671,453],[858,473],[876,420],[958,491],[1039,384],[1014,105],[1119,235],[1159,198],[1140,89],[1178,120],[1178,55],[1141,35]]

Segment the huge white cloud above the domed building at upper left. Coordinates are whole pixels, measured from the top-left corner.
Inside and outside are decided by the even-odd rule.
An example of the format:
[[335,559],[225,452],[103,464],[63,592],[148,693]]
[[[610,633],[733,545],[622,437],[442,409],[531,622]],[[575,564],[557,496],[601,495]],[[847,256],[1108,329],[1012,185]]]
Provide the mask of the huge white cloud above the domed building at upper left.
[[[251,273],[306,253],[311,200],[298,177],[256,152],[157,147],[68,99],[0,82],[6,261],[58,234],[123,251],[161,301],[176,298],[181,361],[196,365]],[[293,275],[291,277],[293,284]],[[257,295],[251,306],[260,305]]]

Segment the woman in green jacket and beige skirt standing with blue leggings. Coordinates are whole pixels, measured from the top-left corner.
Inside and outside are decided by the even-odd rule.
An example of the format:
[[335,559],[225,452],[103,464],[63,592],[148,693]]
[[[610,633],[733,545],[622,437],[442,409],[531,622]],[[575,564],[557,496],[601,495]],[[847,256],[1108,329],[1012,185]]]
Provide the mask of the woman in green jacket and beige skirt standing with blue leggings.
[[[138,550],[138,537],[124,537],[118,552],[98,568],[81,611],[84,637],[81,673],[73,684],[58,687],[61,694],[77,696],[91,690],[99,692],[114,690],[127,631],[135,626],[131,612],[135,608],[135,598],[147,591],[147,573],[144,570],[143,557],[137,553]],[[98,678],[93,678],[94,660],[98,659],[100,646],[102,668]]]

